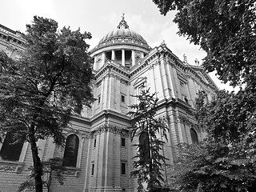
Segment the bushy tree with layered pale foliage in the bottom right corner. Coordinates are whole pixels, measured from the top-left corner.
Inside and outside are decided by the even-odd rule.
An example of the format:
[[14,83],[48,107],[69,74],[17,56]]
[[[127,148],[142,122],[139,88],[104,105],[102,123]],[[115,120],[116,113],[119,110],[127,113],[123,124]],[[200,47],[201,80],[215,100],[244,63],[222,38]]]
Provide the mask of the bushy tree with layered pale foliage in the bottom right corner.
[[[256,167],[250,158],[233,154],[234,146],[205,141],[178,146],[171,188],[177,191],[253,192]],[[238,150],[236,150],[238,151]]]

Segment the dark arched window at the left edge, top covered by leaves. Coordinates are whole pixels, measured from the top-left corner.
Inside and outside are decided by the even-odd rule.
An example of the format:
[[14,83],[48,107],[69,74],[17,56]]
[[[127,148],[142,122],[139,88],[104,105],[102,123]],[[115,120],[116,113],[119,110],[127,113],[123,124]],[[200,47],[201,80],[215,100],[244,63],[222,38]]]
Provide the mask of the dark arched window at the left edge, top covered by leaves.
[[2,160],[17,162],[22,153],[22,147],[23,142],[15,142],[14,134],[12,132],[8,132],[4,142],[2,143],[0,157]]

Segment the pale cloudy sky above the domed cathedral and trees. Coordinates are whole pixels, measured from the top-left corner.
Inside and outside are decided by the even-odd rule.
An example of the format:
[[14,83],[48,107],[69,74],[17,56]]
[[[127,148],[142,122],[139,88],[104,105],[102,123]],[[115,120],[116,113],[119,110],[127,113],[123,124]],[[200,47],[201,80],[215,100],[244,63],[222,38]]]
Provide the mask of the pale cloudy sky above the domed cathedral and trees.
[[[98,45],[99,40],[110,30],[114,30],[125,14],[130,28],[146,40],[152,48],[165,41],[169,49],[183,61],[194,65],[206,57],[206,52],[199,46],[190,44],[186,37],[178,36],[178,26],[173,21],[174,12],[166,16],[160,14],[152,0],[3,0],[1,2],[0,24],[11,30],[26,32],[34,15],[52,18],[61,29],[70,26],[71,30],[90,32],[92,38],[87,43],[90,48]],[[220,89],[234,90],[222,84],[214,72],[210,74]]]

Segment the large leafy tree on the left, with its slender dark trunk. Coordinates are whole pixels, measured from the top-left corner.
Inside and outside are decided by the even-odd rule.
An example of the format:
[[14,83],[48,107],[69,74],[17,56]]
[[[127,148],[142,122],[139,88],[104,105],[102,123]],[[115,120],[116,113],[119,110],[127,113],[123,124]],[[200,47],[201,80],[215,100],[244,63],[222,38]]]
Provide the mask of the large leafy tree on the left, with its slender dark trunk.
[[0,54],[0,130],[14,134],[15,142],[29,142],[37,192],[42,191],[42,162],[38,139],[54,138],[63,145],[63,130],[71,114],[93,102],[92,60],[81,34],[52,19],[34,16],[26,25],[26,50],[17,60]]

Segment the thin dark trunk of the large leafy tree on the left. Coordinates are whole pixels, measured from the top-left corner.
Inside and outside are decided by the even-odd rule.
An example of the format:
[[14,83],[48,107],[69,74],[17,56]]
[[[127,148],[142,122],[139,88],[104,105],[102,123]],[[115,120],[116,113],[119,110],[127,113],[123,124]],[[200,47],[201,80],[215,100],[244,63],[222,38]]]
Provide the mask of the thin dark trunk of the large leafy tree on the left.
[[34,183],[35,191],[42,192],[42,162],[38,156],[38,146],[34,138],[34,126],[30,126],[30,146],[32,151],[33,165],[34,165]]

